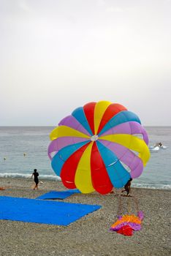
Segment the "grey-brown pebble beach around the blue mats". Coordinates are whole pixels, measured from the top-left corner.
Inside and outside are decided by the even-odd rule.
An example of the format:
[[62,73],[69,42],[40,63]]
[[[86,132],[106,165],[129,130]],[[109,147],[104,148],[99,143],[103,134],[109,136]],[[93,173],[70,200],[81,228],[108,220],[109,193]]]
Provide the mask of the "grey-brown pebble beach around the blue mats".
[[[51,190],[66,190],[61,181],[43,180],[33,190],[30,178],[0,178],[0,195],[36,198]],[[45,225],[0,219],[0,255],[171,255],[171,190],[132,188],[132,197],[113,194],[75,194],[64,202],[102,206],[68,226]],[[143,211],[142,229],[133,236],[111,232],[119,214]]]

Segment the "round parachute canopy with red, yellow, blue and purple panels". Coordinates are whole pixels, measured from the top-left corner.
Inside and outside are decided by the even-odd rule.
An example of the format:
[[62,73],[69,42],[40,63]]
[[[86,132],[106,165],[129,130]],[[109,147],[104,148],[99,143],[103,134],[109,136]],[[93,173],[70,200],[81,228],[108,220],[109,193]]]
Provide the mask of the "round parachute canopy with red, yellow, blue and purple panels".
[[50,133],[48,156],[68,189],[100,194],[137,178],[150,157],[140,119],[123,105],[90,102]]

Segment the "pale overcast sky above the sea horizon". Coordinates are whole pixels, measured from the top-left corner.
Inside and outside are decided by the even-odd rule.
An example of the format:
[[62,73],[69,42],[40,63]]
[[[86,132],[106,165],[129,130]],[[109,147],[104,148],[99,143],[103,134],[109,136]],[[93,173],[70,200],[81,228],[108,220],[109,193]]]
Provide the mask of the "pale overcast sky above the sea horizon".
[[171,125],[170,0],[0,0],[0,126],[52,125],[87,102]]

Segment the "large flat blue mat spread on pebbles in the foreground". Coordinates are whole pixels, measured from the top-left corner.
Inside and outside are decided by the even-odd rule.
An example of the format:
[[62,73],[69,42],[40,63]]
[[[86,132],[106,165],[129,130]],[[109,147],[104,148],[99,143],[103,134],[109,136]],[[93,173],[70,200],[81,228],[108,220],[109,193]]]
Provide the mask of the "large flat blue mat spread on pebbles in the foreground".
[[0,196],[0,219],[66,226],[101,207]]

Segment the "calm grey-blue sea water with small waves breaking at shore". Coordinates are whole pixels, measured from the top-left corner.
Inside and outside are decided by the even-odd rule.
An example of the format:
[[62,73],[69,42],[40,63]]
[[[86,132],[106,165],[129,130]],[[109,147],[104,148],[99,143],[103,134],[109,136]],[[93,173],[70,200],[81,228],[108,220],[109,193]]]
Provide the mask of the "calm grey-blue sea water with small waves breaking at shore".
[[[34,168],[39,179],[58,181],[47,157],[49,134],[54,127],[0,127],[0,177],[28,178]],[[151,152],[151,159],[132,187],[171,189],[171,127],[145,127],[149,145],[161,142],[166,149]],[[24,155],[25,154],[25,155]]]

